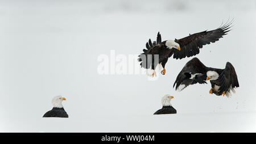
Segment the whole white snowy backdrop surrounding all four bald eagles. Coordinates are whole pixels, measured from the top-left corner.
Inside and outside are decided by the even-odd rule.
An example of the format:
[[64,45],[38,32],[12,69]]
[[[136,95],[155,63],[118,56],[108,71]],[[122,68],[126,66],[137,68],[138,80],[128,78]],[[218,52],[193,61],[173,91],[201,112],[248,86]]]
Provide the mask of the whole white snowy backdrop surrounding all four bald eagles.
[[[166,75],[100,75],[100,54],[139,54],[148,39],[179,39],[234,18],[233,30],[196,57],[235,67],[230,98],[210,84],[172,88],[185,63]],[[256,132],[255,1],[1,1],[0,132]],[[118,63],[118,62],[116,62]],[[163,95],[177,115],[154,116]],[[69,118],[42,118],[53,96]]]

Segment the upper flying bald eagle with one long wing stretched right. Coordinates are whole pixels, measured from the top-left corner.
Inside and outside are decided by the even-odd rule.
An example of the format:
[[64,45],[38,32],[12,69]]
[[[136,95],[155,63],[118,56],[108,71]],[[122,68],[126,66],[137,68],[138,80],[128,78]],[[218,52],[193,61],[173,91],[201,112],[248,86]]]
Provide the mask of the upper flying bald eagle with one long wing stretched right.
[[231,24],[232,21],[212,31],[203,31],[193,35],[189,34],[189,36],[182,39],[166,41],[162,41],[161,35],[158,32],[156,41],[152,43],[150,39],[148,40],[148,43],[146,43],[147,49],[143,49],[143,53],[139,55],[138,61],[141,62],[141,67],[147,69],[148,75],[152,77],[156,75],[155,67],[158,64],[163,67],[161,73],[164,75],[166,74],[164,67],[168,58],[174,55],[174,58],[181,59],[199,54],[199,49],[203,48],[203,45],[214,43],[226,35],[230,31]]

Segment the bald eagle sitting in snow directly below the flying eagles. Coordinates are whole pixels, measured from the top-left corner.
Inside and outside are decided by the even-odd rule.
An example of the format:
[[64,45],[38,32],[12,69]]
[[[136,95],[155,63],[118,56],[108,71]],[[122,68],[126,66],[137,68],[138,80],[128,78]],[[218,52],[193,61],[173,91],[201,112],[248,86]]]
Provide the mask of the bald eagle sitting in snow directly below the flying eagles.
[[162,109],[159,109],[154,113],[154,115],[160,115],[160,114],[171,114],[171,113],[177,113],[176,109],[172,107],[170,101],[173,99],[174,96],[165,95],[162,98]]

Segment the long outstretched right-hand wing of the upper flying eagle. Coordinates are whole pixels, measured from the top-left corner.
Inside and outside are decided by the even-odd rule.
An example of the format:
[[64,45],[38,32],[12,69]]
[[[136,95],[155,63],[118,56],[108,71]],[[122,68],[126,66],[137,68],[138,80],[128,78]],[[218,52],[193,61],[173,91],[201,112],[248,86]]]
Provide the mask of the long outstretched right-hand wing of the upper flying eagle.
[[180,45],[180,50],[174,50],[174,58],[181,59],[185,57],[195,56],[199,54],[199,49],[203,48],[203,45],[214,43],[218,41],[222,36],[226,35],[229,32],[230,23],[224,24],[217,29],[212,31],[203,31],[199,33],[194,33],[182,39],[175,39],[175,42]]

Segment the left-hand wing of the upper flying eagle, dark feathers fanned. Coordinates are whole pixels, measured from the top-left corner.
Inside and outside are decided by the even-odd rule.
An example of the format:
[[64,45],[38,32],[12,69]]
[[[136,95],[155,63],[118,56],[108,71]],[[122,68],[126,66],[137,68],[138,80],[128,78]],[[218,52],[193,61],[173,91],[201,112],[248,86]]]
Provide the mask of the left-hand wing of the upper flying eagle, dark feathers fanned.
[[[146,43],[146,49],[143,49],[142,54],[139,55],[138,61],[141,62],[141,67],[145,69],[154,69],[154,67],[166,60],[169,57],[171,49],[166,49],[164,44],[162,43],[161,35],[158,32],[158,36],[156,37],[156,41],[152,43],[149,39],[148,43]],[[156,57],[157,56],[157,57]],[[158,60],[158,61],[155,61]]]

